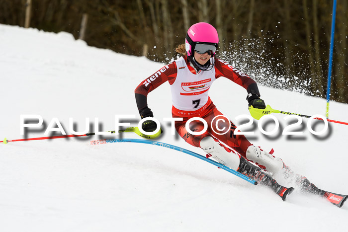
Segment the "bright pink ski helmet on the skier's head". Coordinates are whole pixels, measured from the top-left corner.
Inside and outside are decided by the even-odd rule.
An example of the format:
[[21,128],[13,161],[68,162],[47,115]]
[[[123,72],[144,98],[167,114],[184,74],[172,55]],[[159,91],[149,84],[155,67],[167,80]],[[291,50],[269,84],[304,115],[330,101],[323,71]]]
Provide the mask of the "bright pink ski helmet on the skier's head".
[[195,51],[199,54],[208,52],[213,57],[218,43],[218,33],[209,23],[198,22],[187,30],[185,40],[187,56],[192,56]]

